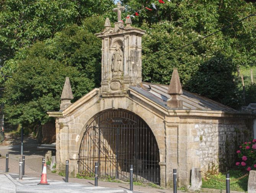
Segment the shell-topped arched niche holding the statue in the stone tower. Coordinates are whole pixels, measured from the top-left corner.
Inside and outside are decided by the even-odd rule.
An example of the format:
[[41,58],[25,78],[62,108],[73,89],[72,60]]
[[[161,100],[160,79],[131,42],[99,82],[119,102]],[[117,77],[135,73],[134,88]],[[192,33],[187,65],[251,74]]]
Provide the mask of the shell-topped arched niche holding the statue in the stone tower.
[[121,79],[124,74],[124,49],[122,40],[114,40],[111,50],[113,50],[111,57],[112,77],[113,79]]

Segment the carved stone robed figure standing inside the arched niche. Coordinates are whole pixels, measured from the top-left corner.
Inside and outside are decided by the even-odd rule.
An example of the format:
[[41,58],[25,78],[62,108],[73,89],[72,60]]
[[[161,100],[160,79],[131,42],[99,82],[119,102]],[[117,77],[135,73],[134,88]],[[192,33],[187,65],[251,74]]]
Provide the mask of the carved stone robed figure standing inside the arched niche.
[[123,61],[124,61],[123,51],[121,50],[121,47],[119,45],[116,45],[116,50],[114,51],[112,56],[112,66],[111,66],[111,70],[113,71],[113,77],[121,76],[123,71]]

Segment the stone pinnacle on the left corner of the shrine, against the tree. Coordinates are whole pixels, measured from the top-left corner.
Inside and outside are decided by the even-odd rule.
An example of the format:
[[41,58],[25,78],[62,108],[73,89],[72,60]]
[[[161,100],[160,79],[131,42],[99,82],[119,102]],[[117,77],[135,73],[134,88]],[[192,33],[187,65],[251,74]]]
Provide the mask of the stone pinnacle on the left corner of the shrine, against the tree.
[[71,100],[73,99],[73,93],[69,82],[69,77],[66,77],[65,84],[61,94],[60,110],[65,110],[68,106],[72,105]]

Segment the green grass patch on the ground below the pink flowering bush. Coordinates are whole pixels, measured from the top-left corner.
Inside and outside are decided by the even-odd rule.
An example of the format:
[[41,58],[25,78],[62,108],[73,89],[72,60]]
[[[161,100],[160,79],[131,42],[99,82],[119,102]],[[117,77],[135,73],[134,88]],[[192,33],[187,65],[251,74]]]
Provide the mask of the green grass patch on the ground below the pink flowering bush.
[[[230,170],[230,190],[233,191],[247,191],[248,176],[240,170]],[[219,173],[218,175],[209,175],[207,179],[202,179],[202,188],[212,188],[225,190],[226,189],[226,173]]]

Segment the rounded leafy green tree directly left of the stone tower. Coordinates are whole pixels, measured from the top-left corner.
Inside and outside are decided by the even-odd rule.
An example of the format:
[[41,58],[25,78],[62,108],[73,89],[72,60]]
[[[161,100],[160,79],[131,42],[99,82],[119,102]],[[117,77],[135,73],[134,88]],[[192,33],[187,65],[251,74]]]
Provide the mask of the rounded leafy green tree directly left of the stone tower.
[[16,55],[16,71],[5,81],[1,99],[9,122],[28,126],[49,121],[46,111],[59,110],[66,76],[74,101],[99,86],[101,40],[94,33],[102,27],[102,17],[86,18],[81,26],[67,27]]

